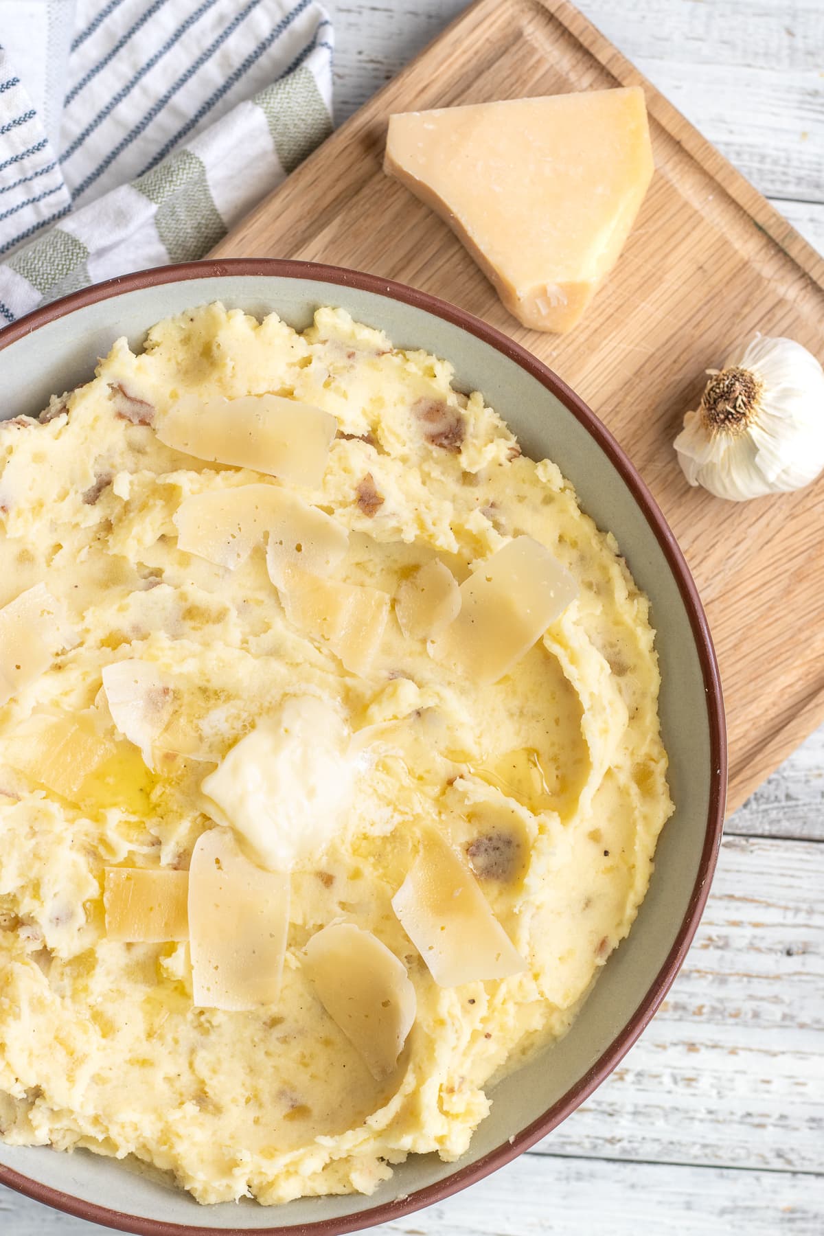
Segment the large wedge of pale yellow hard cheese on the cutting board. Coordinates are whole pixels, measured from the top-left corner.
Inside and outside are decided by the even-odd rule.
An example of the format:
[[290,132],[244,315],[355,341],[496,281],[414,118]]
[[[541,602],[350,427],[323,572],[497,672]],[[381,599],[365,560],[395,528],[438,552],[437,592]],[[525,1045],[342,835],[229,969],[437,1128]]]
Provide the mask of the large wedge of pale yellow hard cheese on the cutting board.
[[436,210],[534,330],[578,321],[652,178],[640,87],[389,117],[384,169]]

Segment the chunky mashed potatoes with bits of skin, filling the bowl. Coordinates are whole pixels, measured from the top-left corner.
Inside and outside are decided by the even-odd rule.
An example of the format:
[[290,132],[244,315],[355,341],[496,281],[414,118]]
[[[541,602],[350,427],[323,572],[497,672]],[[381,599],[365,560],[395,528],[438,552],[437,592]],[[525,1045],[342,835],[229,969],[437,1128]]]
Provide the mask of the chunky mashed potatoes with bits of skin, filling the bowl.
[[[154,326],[137,356],[116,342],[40,424],[0,426],[0,606],[44,585],[61,608],[38,611],[48,664],[16,687],[6,664],[0,708],[7,1142],[135,1154],[203,1203],[368,1193],[410,1153],[467,1149],[490,1079],[568,1030],[630,929],[672,810],[647,601],[557,467],[525,459],[451,378],[340,310],[300,335],[217,304]],[[264,393],[336,419],[320,483],[161,440],[189,397]],[[315,592],[267,569],[266,538],[233,566],[182,550],[187,501],[250,485],[337,525],[342,556],[295,575]],[[523,536],[576,596],[486,681],[426,637],[448,632],[472,566]],[[430,619],[411,603],[421,578],[444,593]],[[324,598],[338,596],[368,614],[330,634]],[[122,661],[148,664],[145,703],[168,706],[175,740],[153,745],[146,708],[122,721],[111,672],[103,690]],[[185,873],[215,827],[290,890],[277,999],[240,1011],[194,1002],[185,939],[106,925],[111,869]],[[505,932],[505,976],[435,981],[398,897],[426,855],[479,894],[484,932]],[[313,980],[306,946],[337,923],[372,933],[411,984],[388,1073]]]

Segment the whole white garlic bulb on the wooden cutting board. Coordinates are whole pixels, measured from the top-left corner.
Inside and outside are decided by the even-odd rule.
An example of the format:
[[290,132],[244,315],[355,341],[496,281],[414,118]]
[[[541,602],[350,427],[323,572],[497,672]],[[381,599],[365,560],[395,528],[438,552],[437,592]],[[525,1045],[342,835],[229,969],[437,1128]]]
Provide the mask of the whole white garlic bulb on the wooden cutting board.
[[824,370],[792,339],[756,335],[708,370],[675,441],[691,485],[741,502],[801,489],[824,468]]

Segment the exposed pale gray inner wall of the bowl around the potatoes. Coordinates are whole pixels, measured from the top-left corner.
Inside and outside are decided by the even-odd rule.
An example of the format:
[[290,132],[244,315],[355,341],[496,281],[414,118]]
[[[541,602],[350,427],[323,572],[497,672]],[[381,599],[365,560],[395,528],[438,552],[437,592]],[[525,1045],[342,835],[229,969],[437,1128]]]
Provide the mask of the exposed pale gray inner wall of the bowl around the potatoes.
[[424,347],[447,357],[457,383],[482,391],[518,434],[525,452],[555,460],[574,483],[584,510],[602,528],[612,529],[651,598],[657,629],[661,719],[677,810],[658,845],[650,892],[572,1032],[495,1088],[492,1114],[460,1163],[413,1157],[371,1198],[304,1199],[278,1209],[251,1203],[203,1208],[164,1180],[128,1170],[127,1164],[85,1152],[62,1154],[0,1143],[0,1163],[6,1167],[140,1219],[254,1231],[362,1215],[366,1225],[372,1208],[444,1180],[537,1120],[591,1069],[644,1000],[687,913],[704,844],[712,770],[702,667],[684,603],[655,533],[584,426],[514,361],[460,326],[389,297],[317,281],[240,274],[127,292],[48,323],[9,346],[0,361],[5,414],[36,414],[51,393],[88,379],[96,357],[120,335],[138,346],[152,323],[215,299],[256,315],[274,309],[298,329],[310,323],[317,305],[340,305],[353,318],[384,329],[397,346]]

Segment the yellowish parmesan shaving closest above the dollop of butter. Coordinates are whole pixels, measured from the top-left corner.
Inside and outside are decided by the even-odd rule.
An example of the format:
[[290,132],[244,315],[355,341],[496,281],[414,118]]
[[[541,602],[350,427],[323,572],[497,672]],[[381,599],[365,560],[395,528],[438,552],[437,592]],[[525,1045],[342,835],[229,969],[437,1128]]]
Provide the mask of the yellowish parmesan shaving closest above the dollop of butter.
[[288,571],[280,592],[287,617],[364,677],[389,617],[389,596],[378,588]]

